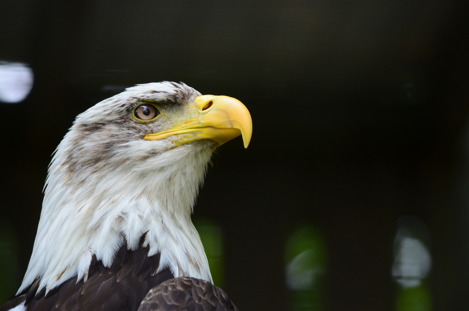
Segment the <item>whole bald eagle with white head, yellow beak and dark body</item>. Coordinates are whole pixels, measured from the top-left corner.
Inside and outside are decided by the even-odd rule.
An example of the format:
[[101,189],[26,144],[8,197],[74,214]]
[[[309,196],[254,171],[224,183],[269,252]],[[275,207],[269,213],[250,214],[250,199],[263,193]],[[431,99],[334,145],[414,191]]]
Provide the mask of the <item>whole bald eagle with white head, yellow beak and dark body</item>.
[[191,213],[248,109],[180,83],[130,87],[76,117],[53,155],[21,287],[0,311],[237,310]]

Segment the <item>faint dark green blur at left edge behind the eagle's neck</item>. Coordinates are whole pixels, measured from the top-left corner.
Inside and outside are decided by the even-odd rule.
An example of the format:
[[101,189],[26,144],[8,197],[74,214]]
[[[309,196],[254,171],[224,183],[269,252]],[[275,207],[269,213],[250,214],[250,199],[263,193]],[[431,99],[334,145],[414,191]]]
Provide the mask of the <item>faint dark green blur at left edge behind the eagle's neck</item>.
[[19,286],[16,235],[11,225],[0,223],[0,305],[8,300]]

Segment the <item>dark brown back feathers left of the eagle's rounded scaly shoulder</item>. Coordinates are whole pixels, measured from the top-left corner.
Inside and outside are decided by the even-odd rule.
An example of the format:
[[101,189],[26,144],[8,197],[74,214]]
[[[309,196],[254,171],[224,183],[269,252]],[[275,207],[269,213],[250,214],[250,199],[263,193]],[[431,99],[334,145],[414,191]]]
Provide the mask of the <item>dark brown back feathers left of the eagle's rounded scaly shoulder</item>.
[[[141,240],[143,241],[143,239]],[[36,280],[20,295],[13,296],[0,311],[26,301],[26,311],[136,311],[151,288],[165,280],[173,279],[169,268],[153,275],[159,267],[160,254],[148,257],[148,247],[119,249],[111,267],[93,260],[86,282],[76,282],[76,277],[63,282],[45,295],[45,288],[36,294]]]

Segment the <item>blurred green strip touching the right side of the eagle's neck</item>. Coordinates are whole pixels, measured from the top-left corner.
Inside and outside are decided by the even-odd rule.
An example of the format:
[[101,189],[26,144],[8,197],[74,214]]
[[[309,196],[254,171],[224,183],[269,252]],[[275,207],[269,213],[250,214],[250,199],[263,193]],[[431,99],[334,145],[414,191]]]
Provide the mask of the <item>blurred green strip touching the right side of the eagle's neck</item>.
[[200,235],[207,255],[213,284],[219,288],[225,285],[225,254],[221,226],[209,219],[197,218],[192,221]]

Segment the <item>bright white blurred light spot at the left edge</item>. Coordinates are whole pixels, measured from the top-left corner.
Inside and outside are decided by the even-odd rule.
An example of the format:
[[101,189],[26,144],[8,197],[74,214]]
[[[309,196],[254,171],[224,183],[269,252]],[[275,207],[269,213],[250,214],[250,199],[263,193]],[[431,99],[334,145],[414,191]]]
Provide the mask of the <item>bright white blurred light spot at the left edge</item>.
[[0,101],[18,103],[31,91],[34,81],[32,69],[19,62],[0,62]]

